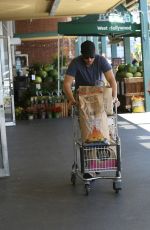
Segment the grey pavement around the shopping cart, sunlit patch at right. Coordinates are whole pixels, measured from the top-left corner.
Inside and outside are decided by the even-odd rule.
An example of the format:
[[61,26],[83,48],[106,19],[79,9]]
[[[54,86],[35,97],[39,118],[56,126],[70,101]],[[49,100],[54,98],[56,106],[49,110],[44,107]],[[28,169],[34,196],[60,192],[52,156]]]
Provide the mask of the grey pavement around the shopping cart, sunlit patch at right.
[[149,125],[149,113],[119,114],[122,190],[98,180],[89,196],[81,180],[70,182],[70,118],[7,127],[11,175],[0,178],[0,230],[149,230]]

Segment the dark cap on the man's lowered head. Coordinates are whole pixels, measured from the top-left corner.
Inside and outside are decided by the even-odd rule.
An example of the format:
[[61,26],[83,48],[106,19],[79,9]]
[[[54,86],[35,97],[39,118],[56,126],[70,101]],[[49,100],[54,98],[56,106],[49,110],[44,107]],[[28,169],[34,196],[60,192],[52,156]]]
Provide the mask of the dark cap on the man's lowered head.
[[85,41],[81,44],[81,53],[83,57],[95,57],[95,45],[91,41]]

